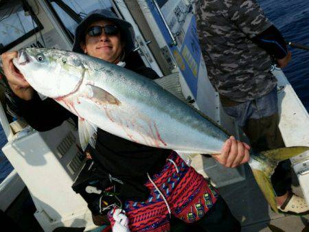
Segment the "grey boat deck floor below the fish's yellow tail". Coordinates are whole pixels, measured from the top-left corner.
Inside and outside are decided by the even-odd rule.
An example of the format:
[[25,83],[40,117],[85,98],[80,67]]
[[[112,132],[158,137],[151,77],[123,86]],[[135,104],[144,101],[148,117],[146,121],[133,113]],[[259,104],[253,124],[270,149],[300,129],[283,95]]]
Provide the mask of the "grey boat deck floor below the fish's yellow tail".
[[[309,215],[291,216],[271,211],[255,182],[249,165],[245,165],[245,174],[245,181],[219,189],[233,215],[242,223],[242,231],[268,232],[271,231],[268,229],[268,224],[272,224],[283,231],[298,232],[309,224]],[[301,196],[296,177],[293,178],[293,192]]]

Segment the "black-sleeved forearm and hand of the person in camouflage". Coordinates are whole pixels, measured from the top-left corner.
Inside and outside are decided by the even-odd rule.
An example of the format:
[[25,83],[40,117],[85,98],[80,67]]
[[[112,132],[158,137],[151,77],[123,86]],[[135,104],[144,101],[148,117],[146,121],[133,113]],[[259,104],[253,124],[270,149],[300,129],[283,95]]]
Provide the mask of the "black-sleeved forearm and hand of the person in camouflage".
[[277,60],[279,67],[286,67],[288,65],[291,54],[286,46],[286,41],[279,30],[277,30],[277,27],[271,25],[264,32],[253,37],[252,41],[273,56]]

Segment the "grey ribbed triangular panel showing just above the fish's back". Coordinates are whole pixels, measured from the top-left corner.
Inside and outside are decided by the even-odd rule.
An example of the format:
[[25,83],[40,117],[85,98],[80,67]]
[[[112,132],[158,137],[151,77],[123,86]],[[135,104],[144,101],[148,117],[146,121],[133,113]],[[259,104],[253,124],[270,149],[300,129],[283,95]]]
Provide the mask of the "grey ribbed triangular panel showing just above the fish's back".
[[154,82],[159,84],[159,86],[166,91],[172,93],[175,97],[185,102],[185,96],[181,91],[181,84],[179,82],[179,73],[172,73],[168,76],[163,76],[163,78],[155,79]]

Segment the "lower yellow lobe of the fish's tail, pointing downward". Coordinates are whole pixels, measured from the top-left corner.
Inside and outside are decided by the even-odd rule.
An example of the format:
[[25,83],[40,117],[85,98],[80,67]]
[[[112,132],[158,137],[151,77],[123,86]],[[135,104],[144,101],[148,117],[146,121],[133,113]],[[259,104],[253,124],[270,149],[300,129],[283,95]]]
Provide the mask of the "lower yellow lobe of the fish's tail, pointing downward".
[[258,183],[264,197],[266,198],[271,209],[278,212],[277,202],[275,198],[275,191],[273,190],[273,185],[271,185],[271,178],[269,178],[264,172],[257,169],[252,169],[255,181]]

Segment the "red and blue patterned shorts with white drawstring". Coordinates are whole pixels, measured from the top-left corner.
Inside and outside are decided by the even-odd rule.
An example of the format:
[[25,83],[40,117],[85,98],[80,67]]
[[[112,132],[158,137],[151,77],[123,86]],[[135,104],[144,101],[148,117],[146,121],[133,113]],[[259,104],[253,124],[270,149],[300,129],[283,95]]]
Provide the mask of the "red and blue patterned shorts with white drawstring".
[[[165,196],[172,215],[187,223],[202,218],[218,198],[217,190],[176,152],[170,154],[163,170],[151,179]],[[148,200],[125,202],[130,231],[169,231],[170,215],[163,197],[150,181],[145,185],[150,189]],[[111,213],[108,218],[113,224]]]

